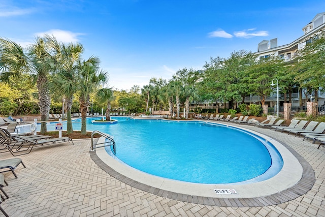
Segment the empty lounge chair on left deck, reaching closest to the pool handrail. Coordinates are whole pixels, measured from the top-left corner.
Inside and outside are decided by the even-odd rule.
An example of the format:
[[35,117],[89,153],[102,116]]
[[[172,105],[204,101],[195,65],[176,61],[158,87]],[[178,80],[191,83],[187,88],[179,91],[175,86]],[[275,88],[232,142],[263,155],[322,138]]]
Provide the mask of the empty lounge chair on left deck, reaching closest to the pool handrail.
[[10,153],[13,156],[30,153],[32,148],[39,147],[39,146],[57,144],[57,143],[62,143],[67,141],[68,142],[71,141],[72,144],[74,144],[72,139],[69,137],[32,140],[17,135],[11,135],[10,138],[12,139],[12,141],[10,144],[7,144],[7,149],[10,151]]

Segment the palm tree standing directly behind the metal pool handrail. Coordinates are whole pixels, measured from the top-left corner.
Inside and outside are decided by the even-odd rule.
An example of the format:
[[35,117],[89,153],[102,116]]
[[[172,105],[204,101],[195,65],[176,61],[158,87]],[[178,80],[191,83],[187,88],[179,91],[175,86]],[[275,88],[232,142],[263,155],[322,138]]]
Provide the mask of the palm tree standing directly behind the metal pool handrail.
[[81,134],[87,132],[86,114],[90,106],[90,94],[95,88],[107,83],[107,72],[99,71],[100,59],[98,57],[90,57],[88,60],[79,62],[78,66],[78,92],[81,111]]

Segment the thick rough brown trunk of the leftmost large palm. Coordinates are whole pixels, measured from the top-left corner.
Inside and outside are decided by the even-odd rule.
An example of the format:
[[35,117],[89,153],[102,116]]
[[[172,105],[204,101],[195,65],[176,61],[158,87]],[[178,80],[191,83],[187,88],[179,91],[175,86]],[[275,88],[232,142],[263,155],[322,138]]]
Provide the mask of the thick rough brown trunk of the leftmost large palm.
[[41,113],[41,134],[47,132],[46,121],[49,119],[51,98],[48,89],[48,80],[45,75],[39,75],[37,79],[37,89],[39,92],[39,106]]

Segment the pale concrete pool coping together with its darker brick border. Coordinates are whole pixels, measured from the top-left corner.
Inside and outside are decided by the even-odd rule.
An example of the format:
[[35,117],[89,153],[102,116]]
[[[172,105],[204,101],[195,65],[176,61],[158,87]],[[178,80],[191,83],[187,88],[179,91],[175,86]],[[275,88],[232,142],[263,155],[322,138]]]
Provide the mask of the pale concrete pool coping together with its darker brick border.
[[[205,121],[204,121],[205,122]],[[216,122],[212,122],[216,123]],[[221,123],[220,123],[221,124]],[[228,126],[228,125],[226,125]],[[233,125],[230,125],[231,127],[235,127]],[[246,131],[251,131],[254,134],[261,134],[256,131],[252,131],[246,128],[241,127],[235,127],[239,129],[244,129]],[[264,134],[261,134],[264,135]],[[266,136],[266,135],[264,135]],[[268,205],[276,205],[280,203],[284,203],[290,200],[293,200],[306,192],[308,192],[314,182],[315,182],[315,175],[314,171],[311,168],[311,166],[308,164],[308,162],[302,158],[293,148],[289,147],[288,145],[284,144],[283,142],[272,138],[270,136],[266,136],[270,138],[270,140],[274,140],[272,142],[279,143],[281,146],[283,146],[287,151],[292,154],[295,159],[298,161],[298,163],[301,165],[301,174],[297,176],[297,171],[290,173],[288,169],[291,169],[292,172],[292,166],[289,165],[292,162],[286,163],[284,159],[284,167],[286,167],[287,171],[282,171],[285,174],[282,174],[282,176],[277,177],[277,180],[267,180],[267,183],[257,182],[256,183],[250,183],[250,184],[196,184],[196,183],[189,183],[189,182],[182,182],[182,181],[176,181],[176,180],[170,180],[165,179],[164,185],[165,187],[160,188],[161,183],[159,183],[159,179],[156,179],[156,176],[150,175],[147,177],[144,177],[143,173],[141,171],[136,171],[136,169],[132,168],[133,170],[125,170],[124,168],[121,168],[120,164],[115,159],[113,159],[109,154],[105,151],[104,148],[99,148],[97,151],[90,152],[90,156],[92,160],[101,167],[105,172],[110,174],[111,176],[115,177],[116,179],[131,185],[132,187],[135,187],[137,189],[165,197],[170,198],[178,201],[184,201],[189,203],[198,203],[198,204],[204,204],[204,205],[213,205],[213,206],[232,206],[232,207],[252,207],[252,206],[268,206]],[[278,148],[278,147],[277,147]],[[281,155],[282,152],[279,150]],[[109,159],[111,158],[111,159]],[[113,160],[113,161],[112,161]],[[113,165],[114,169],[108,165]],[[124,165],[125,166],[125,165]],[[297,165],[295,165],[297,166]],[[123,167],[123,166],[122,166]],[[130,167],[131,168],[131,167]],[[117,172],[118,171],[118,172]],[[138,173],[137,175],[134,174]],[[140,172],[140,174],[139,174]],[[127,176],[125,175],[127,174]],[[296,174],[296,177],[294,177]],[[140,181],[138,181],[138,178],[140,177]],[[284,176],[283,176],[284,175]],[[131,178],[130,178],[131,177]],[[276,176],[275,176],[276,177]],[[160,179],[163,179],[161,177],[158,177]],[[286,178],[287,180],[291,181],[289,185],[284,183],[283,178]],[[298,178],[298,179],[297,179]],[[295,179],[298,181],[296,182]],[[144,181],[143,181],[144,180]],[[292,182],[293,181],[293,182]],[[144,182],[144,183],[143,183]],[[266,184],[266,185],[265,185]],[[271,185],[274,185],[273,187]],[[166,189],[166,185],[168,185]],[[270,192],[266,192],[265,188],[268,188],[271,190]],[[278,189],[280,188],[280,190]],[[232,194],[232,195],[217,195],[213,194],[215,192],[214,189],[236,189],[238,194]],[[186,193],[190,190],[190,194]],[[238,191],[239,190],[239,191]],[[257,190],[259,190],[257,192]],[[203,191],[205,193],[206,191],[209,191],[208,195],[201,194],[198,191]],[[252,191],[252,192],[250,192]],[[213,192],[213,193],[212,193]],[[198,194],[196,194],[198,193]]]

